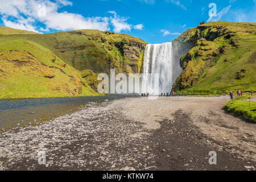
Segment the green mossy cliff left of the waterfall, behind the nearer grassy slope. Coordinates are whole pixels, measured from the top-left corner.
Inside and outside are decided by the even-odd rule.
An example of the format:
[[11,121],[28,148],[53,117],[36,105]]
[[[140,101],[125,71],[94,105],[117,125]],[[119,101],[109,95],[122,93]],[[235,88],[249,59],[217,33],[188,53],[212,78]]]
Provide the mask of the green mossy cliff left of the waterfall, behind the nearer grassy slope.
[[147,44],[127,34],[98,30],[35,35],[30,39],[77,70],[90,69],[94,73],[108,73],[110,68],[117,73],[138,73],[138,61]]

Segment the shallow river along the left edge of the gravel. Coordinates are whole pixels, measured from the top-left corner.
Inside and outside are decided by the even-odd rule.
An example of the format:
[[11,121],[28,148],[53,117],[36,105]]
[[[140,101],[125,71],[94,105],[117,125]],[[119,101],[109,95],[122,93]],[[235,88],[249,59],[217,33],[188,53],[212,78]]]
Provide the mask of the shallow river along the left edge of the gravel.
[[72,113],[89,102],[104,102],[130,95],[109,95],[97,97],[64,97],[64,98],[30,98],[0,100],[0,133],[1,130],[35,126],[50,121],[60,115]]

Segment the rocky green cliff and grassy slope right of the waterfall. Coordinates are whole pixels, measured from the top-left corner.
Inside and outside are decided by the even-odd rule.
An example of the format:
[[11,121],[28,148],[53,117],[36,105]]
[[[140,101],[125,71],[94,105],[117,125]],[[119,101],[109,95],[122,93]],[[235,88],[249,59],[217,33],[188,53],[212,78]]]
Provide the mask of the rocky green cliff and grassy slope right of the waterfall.
[[255,90],[256,23],[205,23],[173,44],[183,72],[172,91],[228,93]]

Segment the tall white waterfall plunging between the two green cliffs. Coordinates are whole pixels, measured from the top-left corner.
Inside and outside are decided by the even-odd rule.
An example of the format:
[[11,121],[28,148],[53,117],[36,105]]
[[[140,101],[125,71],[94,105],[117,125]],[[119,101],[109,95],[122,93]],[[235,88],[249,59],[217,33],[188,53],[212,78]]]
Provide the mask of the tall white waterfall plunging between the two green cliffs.
[[[147,44],[144,52],[143,73],[144,82],[150,94],[160,94],[170,92],[172,84],[182,72],[179,60],[175,60],[172,43]],[[159,74],[159,89],[156,93],[154,90],[154,79],[150,73]]]

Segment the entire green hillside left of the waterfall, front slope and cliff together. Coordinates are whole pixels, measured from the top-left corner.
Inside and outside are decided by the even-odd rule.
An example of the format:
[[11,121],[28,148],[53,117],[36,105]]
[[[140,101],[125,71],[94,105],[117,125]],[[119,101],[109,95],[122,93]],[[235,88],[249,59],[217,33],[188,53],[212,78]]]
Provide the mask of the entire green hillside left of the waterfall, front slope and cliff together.
[[0,27],[0,98],[97,96],[97,73],[141,70],[146,43],[79,30],[54,34]]

